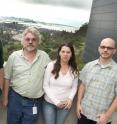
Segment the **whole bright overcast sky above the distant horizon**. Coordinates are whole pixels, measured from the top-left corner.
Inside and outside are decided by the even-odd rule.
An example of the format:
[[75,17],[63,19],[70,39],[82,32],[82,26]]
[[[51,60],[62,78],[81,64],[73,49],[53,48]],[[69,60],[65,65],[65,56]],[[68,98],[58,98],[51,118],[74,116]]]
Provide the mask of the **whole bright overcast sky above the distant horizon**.
[[93,0],[0,0],[0,16],[79,26],[89,21]]

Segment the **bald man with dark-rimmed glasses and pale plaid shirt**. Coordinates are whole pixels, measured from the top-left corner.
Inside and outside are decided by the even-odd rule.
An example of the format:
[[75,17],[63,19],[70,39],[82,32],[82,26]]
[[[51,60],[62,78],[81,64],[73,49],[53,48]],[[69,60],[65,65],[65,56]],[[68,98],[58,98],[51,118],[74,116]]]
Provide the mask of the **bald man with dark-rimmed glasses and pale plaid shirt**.
[[117,64],[112,59],[115,41],[103,39],[98,52],[99,59],[86,64],[80,73],[78,124],[111,124],[111,116],[117,109]]

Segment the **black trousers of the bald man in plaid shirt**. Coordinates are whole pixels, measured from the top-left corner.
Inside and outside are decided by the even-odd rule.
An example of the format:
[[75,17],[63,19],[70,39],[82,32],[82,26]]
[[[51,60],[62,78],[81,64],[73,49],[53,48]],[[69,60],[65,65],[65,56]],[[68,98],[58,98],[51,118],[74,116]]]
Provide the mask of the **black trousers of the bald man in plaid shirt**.
[[[96,123],[97,123],[96,121],[90,120],[84,115],[81,115],[81,118],[78,119],[78,122],[77,122],[77,124],[96,124]],[[111,122],[107,124],[111,124]]]

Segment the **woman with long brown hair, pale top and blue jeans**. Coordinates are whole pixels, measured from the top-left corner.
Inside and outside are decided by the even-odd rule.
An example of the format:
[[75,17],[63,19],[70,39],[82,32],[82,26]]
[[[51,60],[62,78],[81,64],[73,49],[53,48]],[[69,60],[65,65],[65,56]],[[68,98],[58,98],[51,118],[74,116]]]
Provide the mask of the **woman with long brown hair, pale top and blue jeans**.
[[45,124],[64,124],[77,91],[78,69],[71,43],[62,44],[57,59],[48,64],[44,77]]

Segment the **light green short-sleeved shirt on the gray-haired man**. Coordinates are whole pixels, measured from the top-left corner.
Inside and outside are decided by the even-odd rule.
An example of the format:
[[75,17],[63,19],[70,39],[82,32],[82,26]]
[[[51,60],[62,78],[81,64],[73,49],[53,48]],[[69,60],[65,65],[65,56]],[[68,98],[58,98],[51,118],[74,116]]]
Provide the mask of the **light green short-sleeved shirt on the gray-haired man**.
[[37,50],[33,63],[23,55],[23,51],[13,52],[5,64],[5,78],[10,80],[11,87],[18,94],[28,98],[39,98],[43,95],[43,77],[50,58],[44,51]]

